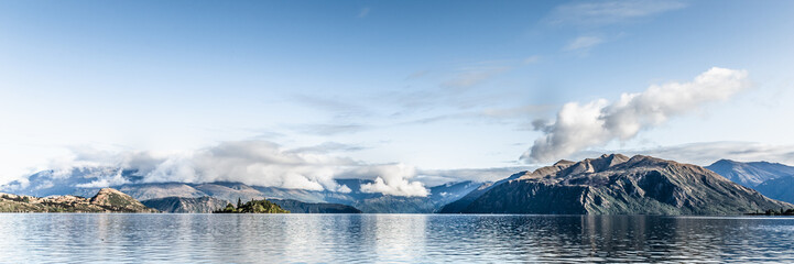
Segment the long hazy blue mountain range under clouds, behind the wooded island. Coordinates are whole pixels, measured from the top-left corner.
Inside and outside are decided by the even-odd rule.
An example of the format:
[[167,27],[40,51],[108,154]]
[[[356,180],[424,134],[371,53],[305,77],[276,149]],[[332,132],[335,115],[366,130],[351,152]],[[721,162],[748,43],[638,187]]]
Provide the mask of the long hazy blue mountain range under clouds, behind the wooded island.
[[[44,170],[29,177],[26,182],[13,182],[0,186],[0,191],[22,195],[53,196],[73,195],[90,197],[99,191],[98,186],[117,188],[139,200],[148,202],[163,211],[196,210],[205,211],[197,200],[170,199],[168,197],[200,198],[213,197],[218,200],[236,201],[281,199],[296,200],[307,204],[339,204],[350,206],[362,212],[382,213],[432,213],[444,205],[463,198],[482,183],[461,182],[429,187],[426,197],[390,196],[379,193],[366,193],[361,186],[371,184],[371,179],[336,179],[337,184],[347,186],[350,191],[305,190],[267,186],[249,186],[242,183],[144,183],[138,170],[123,168],[74,168],[67,172]],[[171,202],[171,204],[170,204]],[[184,205],[183,205],[184,204]],[[155,206],[156,205],[156,206]],[[180,209],[184,208],[184,209]],[[300,212],[300,211],[295,211]]]

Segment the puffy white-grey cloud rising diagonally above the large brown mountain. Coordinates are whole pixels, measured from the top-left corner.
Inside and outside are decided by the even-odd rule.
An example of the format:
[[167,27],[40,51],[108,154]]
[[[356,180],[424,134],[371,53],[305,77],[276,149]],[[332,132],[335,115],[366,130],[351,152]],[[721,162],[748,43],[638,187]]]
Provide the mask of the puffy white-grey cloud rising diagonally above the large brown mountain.
[[629,140],[672,117],[727,99],[749,87],[747,76],[744,70],[715,67],[690,82],[653,85],[643,92],[623,94],[614,102],[598,99],[584,105],[565,103],[554,123],[534,123],[543,135],[521,160],[553,162],[616,139]]

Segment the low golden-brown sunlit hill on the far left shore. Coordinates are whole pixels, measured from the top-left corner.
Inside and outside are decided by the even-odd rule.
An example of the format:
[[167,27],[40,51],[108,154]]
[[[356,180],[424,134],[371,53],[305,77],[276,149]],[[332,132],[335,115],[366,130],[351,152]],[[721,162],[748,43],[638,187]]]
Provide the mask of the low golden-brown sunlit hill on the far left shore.
[[0,194],[0,212],[157,212],[111,188],[90,199],[78,196],[32,197]]

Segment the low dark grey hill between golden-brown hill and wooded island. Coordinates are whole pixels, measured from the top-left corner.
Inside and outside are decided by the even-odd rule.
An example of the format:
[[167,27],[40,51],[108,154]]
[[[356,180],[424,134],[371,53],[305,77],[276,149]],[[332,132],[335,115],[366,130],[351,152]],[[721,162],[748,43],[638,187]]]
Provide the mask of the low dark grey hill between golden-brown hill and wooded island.
[[165,197],[141,201],[144,206],[164,212],[199,212],[209,213],[226,207],[229,201],[216,199],[209,196],[198,198]]

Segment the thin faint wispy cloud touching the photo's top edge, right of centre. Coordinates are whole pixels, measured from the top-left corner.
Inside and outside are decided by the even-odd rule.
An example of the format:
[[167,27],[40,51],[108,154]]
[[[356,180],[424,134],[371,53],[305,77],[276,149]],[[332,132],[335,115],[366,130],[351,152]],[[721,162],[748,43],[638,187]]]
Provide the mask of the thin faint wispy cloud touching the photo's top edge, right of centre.
[[683,8],[686,8],[686,4],[679,1],[629,0],[578,2],[558,6],[551,12],[547,20],[552,24],[600,26]]

